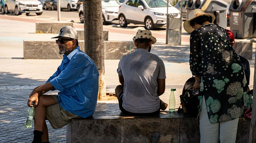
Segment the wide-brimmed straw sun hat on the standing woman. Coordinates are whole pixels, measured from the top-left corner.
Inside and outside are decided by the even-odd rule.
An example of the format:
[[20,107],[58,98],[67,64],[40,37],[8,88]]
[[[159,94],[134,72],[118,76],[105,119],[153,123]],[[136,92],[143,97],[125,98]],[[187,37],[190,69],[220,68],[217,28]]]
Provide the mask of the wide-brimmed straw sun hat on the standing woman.
[[188,20],[186,20],[183,24],[184,29],[188,32],[191,33],[192,31],[194,31],[195,29],[192,28],[192,26],[190,25],[190,21],[199,17],[199,16],[203,16],[203,15],[207,15],[207,16],[211,16],[212,17],[212,23],[215,19],[215,16],[213,14],[210,13],[205,13],[203,10],[201,9],[194,9],[192,10],[189,14],[188,14]]

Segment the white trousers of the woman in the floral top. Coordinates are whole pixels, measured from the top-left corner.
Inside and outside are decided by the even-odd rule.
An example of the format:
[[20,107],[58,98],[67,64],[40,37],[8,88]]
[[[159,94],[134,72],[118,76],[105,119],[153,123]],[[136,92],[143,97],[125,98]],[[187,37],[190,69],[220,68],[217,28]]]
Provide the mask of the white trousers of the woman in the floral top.
[[238,119],[211,124],[207,114],[205,97],[202,98],[200,114],[200,143],[235,143]]

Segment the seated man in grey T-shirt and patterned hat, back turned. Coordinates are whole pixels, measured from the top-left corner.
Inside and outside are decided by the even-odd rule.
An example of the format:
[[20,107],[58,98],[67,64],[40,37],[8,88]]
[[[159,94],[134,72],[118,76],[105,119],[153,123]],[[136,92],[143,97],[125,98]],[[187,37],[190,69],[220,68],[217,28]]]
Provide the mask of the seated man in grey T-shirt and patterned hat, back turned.
[[165,91],[165,66],[163,60],[151,54],[156,43],[150,30],[138,30],[133,37],[136,51],[121,58],[117,73],[119,82],[115,89],[119,109],[126,115],[159,115],[167,104],[159,99]]

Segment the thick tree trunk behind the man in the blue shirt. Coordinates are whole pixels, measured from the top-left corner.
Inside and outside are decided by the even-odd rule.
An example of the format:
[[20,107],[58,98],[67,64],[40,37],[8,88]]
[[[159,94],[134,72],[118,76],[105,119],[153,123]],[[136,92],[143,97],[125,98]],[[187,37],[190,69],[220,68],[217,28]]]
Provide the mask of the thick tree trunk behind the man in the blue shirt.
[[101,0],[84,0],[84,51],[99,71],[98,100],[106,100]]

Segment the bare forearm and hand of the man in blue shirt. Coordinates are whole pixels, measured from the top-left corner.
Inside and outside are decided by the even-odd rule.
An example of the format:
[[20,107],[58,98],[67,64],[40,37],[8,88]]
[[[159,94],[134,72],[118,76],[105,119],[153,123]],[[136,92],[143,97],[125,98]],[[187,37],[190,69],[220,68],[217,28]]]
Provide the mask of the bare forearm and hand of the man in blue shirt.
[[53,89],[54,87],[51,85],[50,82],[47,82],[37,88],[35,88],[33,91],[32,91],[32,95],[31,97],[28,99],[28,103],[27,105],[29,107],[32,107],[32,102],[35,102],[35,107],[37,106],[37,103],[38,103],[38,97],[41,95],[41,94],[44,94],[46,92],[48,92],[49,90]]

